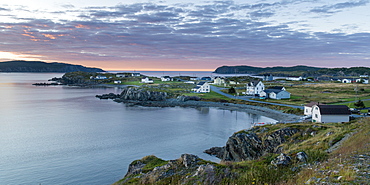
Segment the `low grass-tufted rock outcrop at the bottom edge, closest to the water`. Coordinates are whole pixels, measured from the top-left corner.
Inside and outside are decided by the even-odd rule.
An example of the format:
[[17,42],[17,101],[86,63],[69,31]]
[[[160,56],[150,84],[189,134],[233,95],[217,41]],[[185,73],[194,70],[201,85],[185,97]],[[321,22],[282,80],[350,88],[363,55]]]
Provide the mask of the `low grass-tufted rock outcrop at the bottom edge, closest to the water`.
[[196,155],[182,154],[179,159],[164,161],[155,156],[147,156],[132,162],[120,184],[171,184],[181,181],[184,184],[218,184],[224,178],[236,175],[227,167],[204,161]]

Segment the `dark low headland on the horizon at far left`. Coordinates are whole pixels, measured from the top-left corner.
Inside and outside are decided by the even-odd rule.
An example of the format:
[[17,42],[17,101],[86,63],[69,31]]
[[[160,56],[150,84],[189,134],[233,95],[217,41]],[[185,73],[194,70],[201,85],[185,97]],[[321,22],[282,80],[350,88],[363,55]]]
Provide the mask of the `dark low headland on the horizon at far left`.
[[41,61],[7,61],[0,62],[0,72],[57,72],[67,73],[74,71],[105,72],[100,68],[85,67],[66,63],[46,63]]

